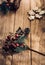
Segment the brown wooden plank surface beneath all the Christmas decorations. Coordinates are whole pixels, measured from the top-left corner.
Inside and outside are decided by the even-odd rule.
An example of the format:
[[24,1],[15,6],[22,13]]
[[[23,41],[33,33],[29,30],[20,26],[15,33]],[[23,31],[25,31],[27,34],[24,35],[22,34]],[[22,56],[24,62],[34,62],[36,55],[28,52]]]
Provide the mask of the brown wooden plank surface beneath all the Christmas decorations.
[[[41,1],[41,2],[40,2]],[[16,13],[9,13],[5,16],[0,15],[0,39],[4,39],[9,32],[15,33],[18,27],[22,29],[29,27],[31,29],[32,48],[45,53],[45,32],[42,28],[45,28],[45,17],[42,20],[34,20],[31,22],[28,20],[27,12],[30,9],[37,7],[45,7],[45,0],[22,0],[20,8]],[[0,0],[2,2],[2,0]],[[26,40],[26,44],[30,47],[30,34]],[[17,55],[6,57],[6,59],[0,54],[0,65],[31,65],[30,51],[21,52]],[[45,57],[32,52],[32,65],[45,65]]]

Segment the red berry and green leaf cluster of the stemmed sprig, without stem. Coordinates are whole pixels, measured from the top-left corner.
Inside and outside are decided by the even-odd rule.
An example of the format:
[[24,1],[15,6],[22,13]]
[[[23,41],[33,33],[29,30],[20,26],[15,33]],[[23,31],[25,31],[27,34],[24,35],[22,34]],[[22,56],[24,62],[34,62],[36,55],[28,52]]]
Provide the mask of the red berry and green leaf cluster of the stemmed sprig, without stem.
[[24,39],[29,34],[29,28],[25,28],[24,31],[19,27],[14,35],[8,35],[5,39],[5,44],[2,49],[6,52],[20,52],[26,50]]

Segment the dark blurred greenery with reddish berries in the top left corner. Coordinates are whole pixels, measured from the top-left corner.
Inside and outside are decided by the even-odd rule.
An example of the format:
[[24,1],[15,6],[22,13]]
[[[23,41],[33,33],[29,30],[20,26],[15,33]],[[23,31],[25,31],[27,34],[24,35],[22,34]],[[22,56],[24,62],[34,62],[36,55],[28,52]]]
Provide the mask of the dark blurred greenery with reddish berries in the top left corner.
[[11,2],[11,0],[3,1],[0,4],[0,12],[3,14],[7,14],[9,11],[16,12],[20,6],[20,1],[21,0],[13,0],[13,2]]

